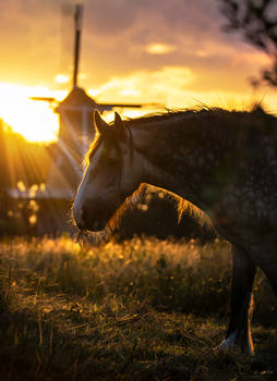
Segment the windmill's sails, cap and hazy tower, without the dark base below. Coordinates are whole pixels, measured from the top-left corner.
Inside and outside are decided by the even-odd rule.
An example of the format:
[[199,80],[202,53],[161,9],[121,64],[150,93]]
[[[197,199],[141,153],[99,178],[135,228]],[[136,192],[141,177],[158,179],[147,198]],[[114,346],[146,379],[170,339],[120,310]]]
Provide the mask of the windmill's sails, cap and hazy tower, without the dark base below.
[[[56,107],[60,116],[60,131],[57,142],[55,163],[49,173],[47,192],[51,198],[72,199],[82,175],[82,160],[94,138],[93,112],[113,108],[141,108],[143,105],[98,103],[84,88],[79,86],[79,67],[82,36],[83,5],[74,8],[74,65],[72,89],[57,102],[55,98],[32,97],[33,100],[48,101]],[[48,197],[48,196],[47,196]]]

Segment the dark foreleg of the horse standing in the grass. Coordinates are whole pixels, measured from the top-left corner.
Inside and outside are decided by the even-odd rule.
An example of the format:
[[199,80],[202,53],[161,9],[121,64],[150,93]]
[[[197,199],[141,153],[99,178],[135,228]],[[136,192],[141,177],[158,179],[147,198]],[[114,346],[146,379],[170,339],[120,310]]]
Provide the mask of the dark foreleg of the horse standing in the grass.
[[231,318],[227,336],[217,349],[240,349],[248,355],[254,355],[251,318],[256,266],[244,249],[236,245],[232,246],[232,260]]

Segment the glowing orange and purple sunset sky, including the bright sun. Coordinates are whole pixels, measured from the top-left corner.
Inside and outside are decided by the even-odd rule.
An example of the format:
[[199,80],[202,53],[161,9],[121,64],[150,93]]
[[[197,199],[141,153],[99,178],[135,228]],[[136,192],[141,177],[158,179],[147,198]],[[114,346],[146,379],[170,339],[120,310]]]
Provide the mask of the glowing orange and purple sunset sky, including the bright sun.
[[[277,89],[249,78],[268,58],[222,32],[217,0],[84,0],[80,86],[101,102],[204,102],[277,112]],[[52,139],[57,115],[28,96],[71,88],[73,15],[67,0],[0,2],[0,118],[29,139]]]

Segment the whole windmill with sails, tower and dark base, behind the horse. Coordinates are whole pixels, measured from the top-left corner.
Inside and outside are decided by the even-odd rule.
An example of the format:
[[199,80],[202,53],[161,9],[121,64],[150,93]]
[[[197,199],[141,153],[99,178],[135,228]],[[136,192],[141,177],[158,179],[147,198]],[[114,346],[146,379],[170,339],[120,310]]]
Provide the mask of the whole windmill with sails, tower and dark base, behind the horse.
[[[41,233],[56,233],[59,231],[72,231],[69,224],[69,209],[71,200],[75,196],[77,185],[82,176],[82,161],[89,143],[93,140],[95,130],[93,125],[93,112],[110,111],[113,108],[142,108],[161,106],[131,105],[131,103],[100,103],[91,98],[84,88],[79,86],[79,67],[82,37],[83,5],[74,7],[74,65],[72,74],[72,88],[61,101],[55,98],[32,97],[33,100],[47,101],[59,114],[60,131],[58,142],[51,151],[52,167],[46,182],[44,194],[36,197],[45,199]],[[50,226],[49,229],[46,226]]]

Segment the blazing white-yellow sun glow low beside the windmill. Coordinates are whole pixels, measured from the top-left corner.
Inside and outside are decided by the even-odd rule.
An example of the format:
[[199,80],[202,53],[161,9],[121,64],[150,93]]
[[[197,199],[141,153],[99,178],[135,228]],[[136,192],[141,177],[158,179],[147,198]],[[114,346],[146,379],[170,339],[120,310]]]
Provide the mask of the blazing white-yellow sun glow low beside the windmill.
[[55,142],[58,138],[59,116],[48,102],[29,99],[37,94],[53,96],[41,87],[0,83],[0,118],[29,142]]

